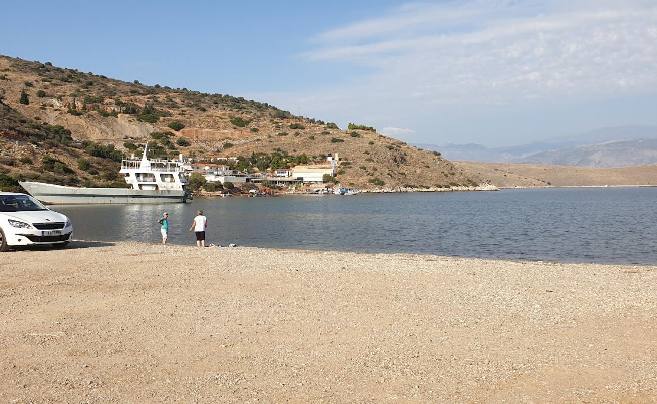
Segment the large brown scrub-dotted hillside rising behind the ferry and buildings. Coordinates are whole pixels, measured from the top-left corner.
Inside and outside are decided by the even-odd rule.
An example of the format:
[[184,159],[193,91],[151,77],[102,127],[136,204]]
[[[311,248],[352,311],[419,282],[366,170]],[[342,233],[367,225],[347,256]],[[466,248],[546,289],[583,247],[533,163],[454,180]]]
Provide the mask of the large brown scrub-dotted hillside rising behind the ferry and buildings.
[[[336,181],[376,191],[486,185],[482,177],[455,166],[440,152],[409,146],[374,128],[342,130],[334,123],[232,95],[147,86],[137,80],[127,83],[49,62],[0,56],[0,96],[6,107],[0,110],[0,137],[32,143],[7,143],[0,150],[0,168],[14,178],[69,185],[114,182],[118,166],[112,159],[117,153],[139,154],[138,146],[149,141],[152,156],[182,153],[200,161],[240,157],[241,162],[248,160],[242,166],[247,170],[271,168],[276,157],[277,163],[294,166],[338,154]],[[26,129],[49,127],[61,127],[72,141],[84,143],[43,143],[49,135]],[[98,151],[102,148],[106,150]],[[20,162],[23,155],[32,162]],[[60,160],[67,171],[51,171],[51,164],[43,164],[46,156]],[[76,168],[78,159],[91,159],[91,168]],[[108,161],[101,164],[99,159]]]

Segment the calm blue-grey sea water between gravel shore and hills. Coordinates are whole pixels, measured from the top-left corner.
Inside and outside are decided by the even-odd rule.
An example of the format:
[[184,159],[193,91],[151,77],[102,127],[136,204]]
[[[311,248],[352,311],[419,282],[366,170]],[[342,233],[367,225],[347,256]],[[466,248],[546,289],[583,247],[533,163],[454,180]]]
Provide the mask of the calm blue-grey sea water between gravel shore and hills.
[[75,237],[194,244],[196,210],[208,244],[411,252],[560,262],[657,264],[657,188],[523,189],[357,196],[194,198],[187,204],[55,206]]

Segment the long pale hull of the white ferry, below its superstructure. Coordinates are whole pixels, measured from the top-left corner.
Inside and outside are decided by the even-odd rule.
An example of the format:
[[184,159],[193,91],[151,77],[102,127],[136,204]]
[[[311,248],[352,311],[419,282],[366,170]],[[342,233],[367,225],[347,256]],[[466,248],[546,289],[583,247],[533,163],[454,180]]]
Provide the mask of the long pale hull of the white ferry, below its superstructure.
[[152,204],[186,202],[189,198],[189,192],[184,190],[74,188],[32,182],[19,184],[34,198],[47,204]]

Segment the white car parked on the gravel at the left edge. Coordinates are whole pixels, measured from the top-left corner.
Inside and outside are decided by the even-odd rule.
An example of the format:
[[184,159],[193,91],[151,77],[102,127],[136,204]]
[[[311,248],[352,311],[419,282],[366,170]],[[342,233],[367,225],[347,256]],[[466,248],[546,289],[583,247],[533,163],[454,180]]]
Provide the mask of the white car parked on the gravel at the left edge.
[[0,252],[13,246],[65,247],[72,239],[73,225],[62,213],[30,195],[0,192]]

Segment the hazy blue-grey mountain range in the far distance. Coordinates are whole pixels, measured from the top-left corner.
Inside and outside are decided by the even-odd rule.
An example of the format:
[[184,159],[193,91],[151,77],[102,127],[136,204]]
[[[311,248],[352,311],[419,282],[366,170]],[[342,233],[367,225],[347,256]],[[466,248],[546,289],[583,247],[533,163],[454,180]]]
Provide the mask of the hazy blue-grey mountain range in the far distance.
[[555,137],[526,145],[489,148],[468,145],[415,144],[437,150],[451,160],[622,167],[657,164],[657,127],[602,127],[581,135]]

